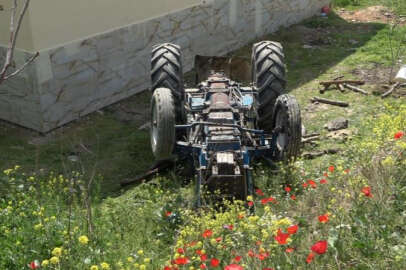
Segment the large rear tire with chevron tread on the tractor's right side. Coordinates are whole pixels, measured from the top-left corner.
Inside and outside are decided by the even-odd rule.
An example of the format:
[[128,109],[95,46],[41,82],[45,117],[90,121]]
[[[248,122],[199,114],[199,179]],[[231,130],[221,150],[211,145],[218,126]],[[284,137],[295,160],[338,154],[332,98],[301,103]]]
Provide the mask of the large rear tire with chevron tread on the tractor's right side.
[[278,42],[262,41],[252,48],[252,81],[258,89],[258,126],[272,131],[272,114],[278,96],[284,94],[285,55]]

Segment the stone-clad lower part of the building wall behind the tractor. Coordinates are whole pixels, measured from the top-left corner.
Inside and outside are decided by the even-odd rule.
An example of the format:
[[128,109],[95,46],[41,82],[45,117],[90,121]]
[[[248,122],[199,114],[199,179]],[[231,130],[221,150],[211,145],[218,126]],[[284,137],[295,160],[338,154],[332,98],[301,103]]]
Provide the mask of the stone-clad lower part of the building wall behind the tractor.
[[[211,0],[154,19],[41,51],[25,84],[1,91],[22,92],[35,121],[1,118],[46,132],[149,87],[150,51],[172,42],[183,48],[184,71],[196,54],[222,55],[252,39],[320,11],[328,0]],[[18,78],[16,78],[17,80]],[[17,83],[16,83],[17,84]],[[32,94],[33,92],[33,94]],[[34,98],[33,96],[37,96]],[[27,101],[25,100],[27,97]],[[0,95],[0,100],[3,97]],[[13,103],[21,103],[14,100]],[[1,104],[1,101],[0,101]],[[23,109],[24,106],[17,106]],[[39,113],[38,113],[39,112]],[[18,113],[18,112],[17,112]]]

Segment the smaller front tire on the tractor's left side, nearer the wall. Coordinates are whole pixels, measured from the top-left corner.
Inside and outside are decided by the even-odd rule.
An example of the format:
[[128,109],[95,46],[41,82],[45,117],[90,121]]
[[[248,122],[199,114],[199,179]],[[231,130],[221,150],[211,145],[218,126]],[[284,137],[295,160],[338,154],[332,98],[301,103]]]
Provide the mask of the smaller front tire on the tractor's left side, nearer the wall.
[[175,146],[175,103],[168,88],[155,89],[151,99],[151,148],[157,160],[170,159]]

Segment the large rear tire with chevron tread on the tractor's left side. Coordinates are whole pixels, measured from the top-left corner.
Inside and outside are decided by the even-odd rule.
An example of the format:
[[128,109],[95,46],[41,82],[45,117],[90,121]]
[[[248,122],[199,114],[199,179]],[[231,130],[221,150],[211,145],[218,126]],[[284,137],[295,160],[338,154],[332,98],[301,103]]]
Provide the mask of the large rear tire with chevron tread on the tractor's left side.
[[151,56],[152,92],[158,88],[171,90],[176,108],[176,120],[182,122],[184,98],[182,53],[179,46],[163,43],[152,48]]

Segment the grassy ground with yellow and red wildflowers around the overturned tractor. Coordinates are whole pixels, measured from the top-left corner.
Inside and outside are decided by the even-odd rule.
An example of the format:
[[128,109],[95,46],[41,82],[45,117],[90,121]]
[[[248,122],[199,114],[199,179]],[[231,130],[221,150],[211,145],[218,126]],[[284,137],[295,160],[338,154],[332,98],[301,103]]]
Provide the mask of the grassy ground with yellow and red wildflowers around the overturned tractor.
[[[404,98],[383,102],[375,95],[330,90],[323,97],[350,107],[309,102],[320,95],[318,81],[339,75],[365,76],[365,90],[380,89],[391,65],[388,29],[349,23],[333,13],[263,38],[284,45],[288,91],[301,104],[308,133],[322,135],[319,145],[304,151],[342,151],[300,159],[276,173],[258,164],[256,185],[264,195],[252,198],[255,214],[238,203],[223,211],[193,211],[193,183],[184,184],[173,172],[119,189],[119,181],[153,160],[149,134],[138,130],[148,118],[147,93],[47,136],[2,124],[0,169],[13,169],[0,176],[0,269],[35,260],[44,269],[162,269],[185,257],[189,262],[180,269],[223,269],[230,263],[244,269],[405,269],[406,141],[394,139],[405,132]],[[250,48],[233,54],[249,56]],[[135,120],[118,114],[131,109],[137,109]],[[328,138],[323,128],[338,116],[349,119],[352,134],[346,139]],[[372,197],[362,192],[365,187]],[[269,197],[274,200],[263,200]],[[320,223],[325,214],[328,222]],[[278,229],[293,225],[298,232],[279,244]],[[310,247],[322,240],[326,253],[306,263]],[[213,258],[219,267],[211,266]]]

